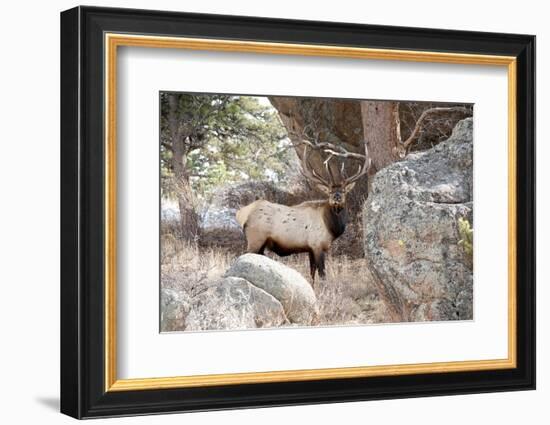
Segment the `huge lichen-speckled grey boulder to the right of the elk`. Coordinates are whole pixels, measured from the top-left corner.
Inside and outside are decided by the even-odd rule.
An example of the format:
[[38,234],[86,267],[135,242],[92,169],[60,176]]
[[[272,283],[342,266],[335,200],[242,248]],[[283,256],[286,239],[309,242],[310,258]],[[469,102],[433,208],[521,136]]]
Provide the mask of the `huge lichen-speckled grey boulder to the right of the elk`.
[[394,321],[472,319],[471,259],[458,220],[472,223],[471,118],[435,148],[379,171],[363,206],[365,256]]

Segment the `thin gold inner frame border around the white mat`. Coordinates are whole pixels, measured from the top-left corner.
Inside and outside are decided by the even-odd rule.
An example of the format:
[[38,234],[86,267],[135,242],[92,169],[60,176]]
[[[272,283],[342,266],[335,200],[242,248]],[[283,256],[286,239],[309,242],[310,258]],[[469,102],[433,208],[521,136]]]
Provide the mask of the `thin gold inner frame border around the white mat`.
[[[510,369],[516,367],[516,58],[326,45],[105,34],[105,391]],[[355,59],[494,65],[508,71],[508,357],[419,364],[303,369],[175,377],[118,379],[116,324],[116,114],[119,46],[325,56]]]

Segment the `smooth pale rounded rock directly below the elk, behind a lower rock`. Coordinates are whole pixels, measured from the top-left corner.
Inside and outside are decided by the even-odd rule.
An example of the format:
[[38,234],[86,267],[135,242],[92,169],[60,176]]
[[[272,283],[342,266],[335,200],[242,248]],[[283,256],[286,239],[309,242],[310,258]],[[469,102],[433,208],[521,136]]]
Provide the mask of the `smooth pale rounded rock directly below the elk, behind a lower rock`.
[[275,297],[292,323],[310,325],[318,315],[317,298],[304,277],[296,270],[263,255],[241,255],[226,276],[246,279]]

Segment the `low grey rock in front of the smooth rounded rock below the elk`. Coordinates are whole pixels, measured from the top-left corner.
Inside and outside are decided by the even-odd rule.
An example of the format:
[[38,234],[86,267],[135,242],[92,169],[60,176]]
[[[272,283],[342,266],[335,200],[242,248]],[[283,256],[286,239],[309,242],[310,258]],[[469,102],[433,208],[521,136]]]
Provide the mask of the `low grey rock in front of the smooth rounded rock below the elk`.
[[193,298],[186,331],[253,329],[287,324],[283,306],[264,290],[226,277]]

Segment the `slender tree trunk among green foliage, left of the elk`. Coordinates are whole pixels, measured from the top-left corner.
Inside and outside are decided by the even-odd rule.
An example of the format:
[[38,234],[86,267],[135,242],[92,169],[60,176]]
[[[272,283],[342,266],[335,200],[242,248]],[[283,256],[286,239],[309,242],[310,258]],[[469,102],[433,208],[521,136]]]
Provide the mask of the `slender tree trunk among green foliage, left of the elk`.
[[195,210],[195,199],[189,183],[189,173],[186,169],[187,149],[184,143],[186,136],[180,128],[177,101],[177,95],[169,95],[168,125],[172,139],[172,169],[176,180],[181,235],[183,240],[193,242],[199,233],[199,217]]

